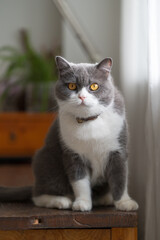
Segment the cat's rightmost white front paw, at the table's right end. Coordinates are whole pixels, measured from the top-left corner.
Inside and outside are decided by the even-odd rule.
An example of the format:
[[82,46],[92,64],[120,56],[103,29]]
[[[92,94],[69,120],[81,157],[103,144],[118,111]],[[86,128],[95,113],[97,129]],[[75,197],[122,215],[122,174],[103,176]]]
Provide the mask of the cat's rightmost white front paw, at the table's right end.
[[132,199],[117,201],[115,206],[117,210],[122,211],[135,211],[138,209],[138,203]]

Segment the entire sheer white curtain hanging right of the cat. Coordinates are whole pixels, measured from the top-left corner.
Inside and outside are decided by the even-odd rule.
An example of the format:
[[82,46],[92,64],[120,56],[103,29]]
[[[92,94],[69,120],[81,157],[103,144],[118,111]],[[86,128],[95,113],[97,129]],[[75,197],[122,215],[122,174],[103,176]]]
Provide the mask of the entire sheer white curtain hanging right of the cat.
[[121,87],[131,132],[130,192],[139,239],[160,239],[160,1],[122,0]]

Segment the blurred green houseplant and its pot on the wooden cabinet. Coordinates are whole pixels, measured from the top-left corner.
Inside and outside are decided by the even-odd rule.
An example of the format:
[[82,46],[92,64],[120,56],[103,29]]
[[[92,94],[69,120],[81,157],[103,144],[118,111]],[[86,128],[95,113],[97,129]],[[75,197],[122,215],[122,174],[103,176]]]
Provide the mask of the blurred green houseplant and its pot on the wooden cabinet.
[[32,47],[26,30],[22,30],[20,36],[22,52],[11,46],[0,48],[0,61],[5,64],[0,76],[0,109],[45,112],[57,79],[53,58],[57,52],[50,57],[42,55]]

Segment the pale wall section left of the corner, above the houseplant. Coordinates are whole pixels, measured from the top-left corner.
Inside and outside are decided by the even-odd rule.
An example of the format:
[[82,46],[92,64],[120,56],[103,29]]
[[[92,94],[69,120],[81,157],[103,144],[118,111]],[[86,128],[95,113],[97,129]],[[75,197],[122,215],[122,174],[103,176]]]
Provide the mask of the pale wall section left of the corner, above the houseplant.
[[29,30],[38,51],[61,43],[60,16],[51,0],[0,0],[0,47],[19,47],[22,28]]

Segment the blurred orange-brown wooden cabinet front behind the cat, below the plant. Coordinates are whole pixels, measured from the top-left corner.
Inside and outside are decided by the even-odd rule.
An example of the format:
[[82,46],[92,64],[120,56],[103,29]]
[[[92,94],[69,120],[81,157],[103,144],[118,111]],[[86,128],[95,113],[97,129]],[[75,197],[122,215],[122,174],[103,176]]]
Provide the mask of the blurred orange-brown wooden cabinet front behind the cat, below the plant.
[[43,143],[56,114],[0,114],[0,157],[30,157]]

